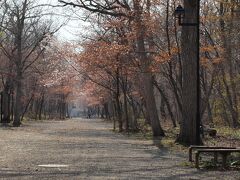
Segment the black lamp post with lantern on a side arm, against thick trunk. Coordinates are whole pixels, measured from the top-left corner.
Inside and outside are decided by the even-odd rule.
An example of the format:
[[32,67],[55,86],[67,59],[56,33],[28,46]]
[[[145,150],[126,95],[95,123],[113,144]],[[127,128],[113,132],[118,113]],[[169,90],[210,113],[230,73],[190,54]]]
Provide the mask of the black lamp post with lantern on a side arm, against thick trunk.
[[181,6],[178,5],[178,7],[174,11],[174,16],[178,19],[178,24],[180,26],[195,26],[197,28],[197,36],[196,36],[196,42],[197,42],[197,67],[196,67],[196,73],[197,73],[197,86],[196,86],[196,144],[200,145],[201,138],[200,138],[200,95],[201,95],[201,89],[200,89],[200,54],[199,54],[199,25],[200,25],[200,0],[197,0],[197,16],[196,16],[196,23],[187,23],[184,21],[184,17],[186,14],[186,10]]

